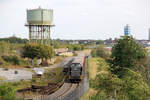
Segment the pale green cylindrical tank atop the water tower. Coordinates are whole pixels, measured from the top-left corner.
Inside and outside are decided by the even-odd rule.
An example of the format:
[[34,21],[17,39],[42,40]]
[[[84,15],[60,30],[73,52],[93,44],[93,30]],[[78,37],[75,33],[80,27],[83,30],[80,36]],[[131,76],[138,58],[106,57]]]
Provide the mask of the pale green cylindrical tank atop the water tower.
[[52,25],[53,10],[51,9],[31,9],[27,10],[27,23],[29,25]]

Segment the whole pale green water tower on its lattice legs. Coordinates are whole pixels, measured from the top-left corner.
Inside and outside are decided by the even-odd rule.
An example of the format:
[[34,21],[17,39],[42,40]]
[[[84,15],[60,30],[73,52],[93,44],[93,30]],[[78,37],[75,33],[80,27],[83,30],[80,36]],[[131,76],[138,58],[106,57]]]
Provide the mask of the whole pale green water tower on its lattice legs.
[[50,31],[53,23],[52,9],[27,10],[27,26],[29,28],[29,41],[33,43],[50,44]]

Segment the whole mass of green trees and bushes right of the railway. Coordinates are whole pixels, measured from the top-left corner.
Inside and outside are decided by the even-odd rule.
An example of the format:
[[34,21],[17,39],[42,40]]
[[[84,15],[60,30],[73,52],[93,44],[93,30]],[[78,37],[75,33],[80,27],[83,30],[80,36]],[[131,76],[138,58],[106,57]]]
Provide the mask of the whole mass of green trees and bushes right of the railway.
[[94,49],[93,56],[95,52],[104,59],[99,61],[96,78],[90,81],[97,91],[91,100],[150,100],[150,57],[132,36],[121,37],[108,59],[104,48]]

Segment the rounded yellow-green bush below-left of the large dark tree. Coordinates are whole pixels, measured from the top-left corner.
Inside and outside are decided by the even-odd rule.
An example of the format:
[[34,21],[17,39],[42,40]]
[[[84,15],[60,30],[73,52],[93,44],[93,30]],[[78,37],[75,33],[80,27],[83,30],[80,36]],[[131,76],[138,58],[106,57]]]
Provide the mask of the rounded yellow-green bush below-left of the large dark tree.
[[98,91],[104,91],[108,98],[117,98],[123,84],[122,80],[116,75],[104,72],[97,74],[93,82],[93,88]]

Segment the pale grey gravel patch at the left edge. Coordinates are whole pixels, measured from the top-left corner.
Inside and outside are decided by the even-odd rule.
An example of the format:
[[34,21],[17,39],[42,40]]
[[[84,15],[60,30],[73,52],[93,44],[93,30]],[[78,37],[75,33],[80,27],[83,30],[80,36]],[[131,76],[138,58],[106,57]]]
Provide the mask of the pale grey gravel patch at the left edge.
[[[16,73],[15,73],[16,71]],[[21,79],[28,80],[32,79],[32,72],[27,71],[25,69],[9,69],[4,70],[0,68],[0,77],[4,77],[4,81],[6,82],[16,82]]]

